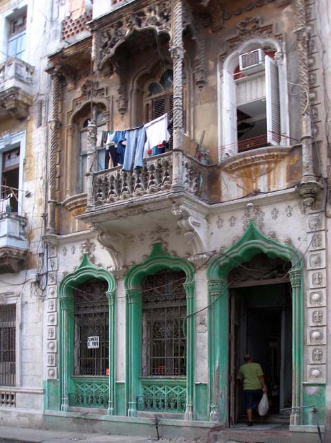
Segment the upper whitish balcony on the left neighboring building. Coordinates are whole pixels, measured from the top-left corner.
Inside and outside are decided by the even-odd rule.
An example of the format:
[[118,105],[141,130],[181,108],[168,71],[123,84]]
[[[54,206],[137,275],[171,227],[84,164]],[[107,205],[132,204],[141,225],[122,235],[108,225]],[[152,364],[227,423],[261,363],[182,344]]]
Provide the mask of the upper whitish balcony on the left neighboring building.
[[17,120],[28,116],[32,105],[32,75],[35,68],[17,57],[0,64],[0,114],[10,114]]

